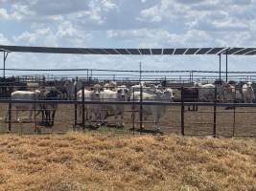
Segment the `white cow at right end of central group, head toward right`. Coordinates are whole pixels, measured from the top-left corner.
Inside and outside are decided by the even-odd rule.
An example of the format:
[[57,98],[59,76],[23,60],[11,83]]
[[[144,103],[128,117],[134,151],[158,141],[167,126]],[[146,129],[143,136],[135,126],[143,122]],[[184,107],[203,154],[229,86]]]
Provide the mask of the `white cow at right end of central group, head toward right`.
[[[173,90],[168,88],[163,91],[156,90],[154,94],[143,93],[143,102],[147,101],[173,101],[174,93]],[[134,95],[131,95],[130,100],[135,100],[137,102],[140,101],[140,92],[135,92]],[[138,105],[136,106],[136,110],[138,110]],[[143,114],[144,117],[148,117],[150,115],[153,116],[154,129],[159,130],[159,120],[160,117],[163,117],[167,106],[164,105],[144,105],[143,106]]]

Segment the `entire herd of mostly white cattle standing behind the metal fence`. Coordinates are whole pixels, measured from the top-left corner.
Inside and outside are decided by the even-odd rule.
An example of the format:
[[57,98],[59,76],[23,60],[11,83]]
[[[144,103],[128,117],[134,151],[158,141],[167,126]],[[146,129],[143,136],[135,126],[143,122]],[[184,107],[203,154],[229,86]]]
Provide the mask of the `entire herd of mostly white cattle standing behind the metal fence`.
[[[165,83],[166,84],[166,83]],[[163,87],[162,85],[147,83],[141,81],[138,84],[124,85],[117,84],[114,81],[108,81],[105,84],[94,84],[92,86],[84,86],[81,81],[67,80],[63,86],[45,86],[37,88],[34,91],[23,90],[12,92],[12,100],[59,100],[59,99],[77,99],[78,102],[78,120],[82,120],[82,112],[84,111],[84,120],[86,125],[93,124],[97,126],[105,125],[107,117],[114,116],[115,125],[117,127],[124,126],[124,104],[115,104],[118,102],[131,102],[128,105],[131,111],[139,111],[138,104],[133,102],[153,101],[153,102],[172,102],[185,101],[193,102],[193,108],[188,110],[197,111],[198,101],[214,101],[221,102],[253,102],[255,99],[254,90],[251,82],[236,83],[230,81],[228,83],[221,80],[216,80],[212,84],[193,83],[191,86],[182,88],[177,87]],[[170,86],[171,87],[171,86]],[[84,99],[83,105],[80,104]],[[99,101],[99,104],[89,104],[88,101]],[[101,102],[107,101],[107,104]],[[145,104],[143,106],[143,117],[149,116],[153,119],[154,128],[159,130],[159,120],[166,112],[168,105],[163,104]],[[58,109],[58,101],[44,102],[44,103],[12,103],[13,111],[15,111],[15,120],[20,121],[20,111],[30,111],[29,120],[32,120],[33,112],[36,115],[41,114],[41,121],[48,126],[54,125],[55,115]],[[135,115],[137,114],[137,115]],[[138,116],[138,112],[131,113],[130,117]],[[8,120],[9,112],[5,117]]]

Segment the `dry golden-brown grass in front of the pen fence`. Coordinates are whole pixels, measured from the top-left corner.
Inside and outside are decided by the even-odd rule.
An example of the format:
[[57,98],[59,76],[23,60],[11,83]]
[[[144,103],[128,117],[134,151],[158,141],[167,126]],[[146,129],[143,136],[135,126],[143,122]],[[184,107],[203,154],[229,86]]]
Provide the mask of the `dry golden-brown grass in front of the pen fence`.
[[255,139],[0,137],[0,190],[256,190]]

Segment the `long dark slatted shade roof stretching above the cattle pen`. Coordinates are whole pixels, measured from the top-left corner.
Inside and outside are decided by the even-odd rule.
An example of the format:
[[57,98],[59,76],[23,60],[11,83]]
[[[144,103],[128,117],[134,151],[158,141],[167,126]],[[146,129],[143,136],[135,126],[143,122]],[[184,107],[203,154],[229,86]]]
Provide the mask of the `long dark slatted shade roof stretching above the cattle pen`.
[[255,55],[256,48],[165,48],[165,49],[106,49],[106,48],[60,48],[0,45],[0,52],[12,53],[77,53],[77,54],[123,54],[123,55],[183,55],[183,54],[234,54]]

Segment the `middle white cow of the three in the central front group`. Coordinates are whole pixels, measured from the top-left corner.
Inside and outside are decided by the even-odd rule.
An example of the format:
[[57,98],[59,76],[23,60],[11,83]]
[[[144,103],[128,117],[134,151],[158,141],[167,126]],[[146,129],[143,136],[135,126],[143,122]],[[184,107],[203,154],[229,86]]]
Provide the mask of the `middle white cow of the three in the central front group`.
[[[128,101],[129,92],[126,86],[117,87],[117,91],[104,90],[101,92],[101,101]],[[102,121],[105,122],[108,111],[113,111],[116,125],[124,126],[124,105],[121,104],[104,104],[102,105]]]

